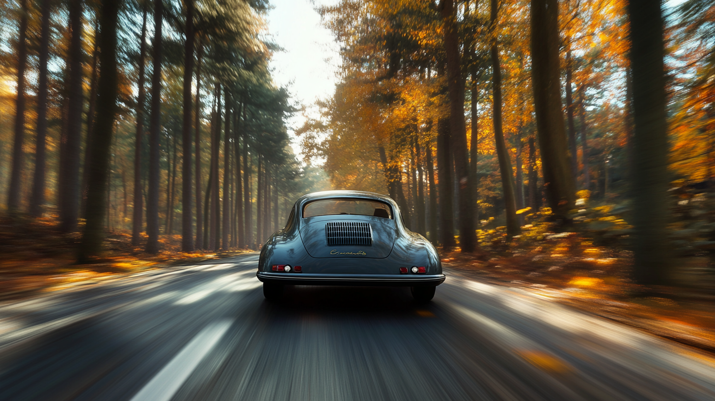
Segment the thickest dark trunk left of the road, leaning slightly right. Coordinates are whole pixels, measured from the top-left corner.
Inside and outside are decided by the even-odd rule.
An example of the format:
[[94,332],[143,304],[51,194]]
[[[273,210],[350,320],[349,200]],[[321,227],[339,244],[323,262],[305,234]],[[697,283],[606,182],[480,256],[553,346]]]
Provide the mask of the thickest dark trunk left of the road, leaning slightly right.
[[102,0],[99,34],[102,54],[99,55],[102,74],[97,97],[97,127],[92,132],[92,159],[89,160],[89,190],[87,191],[87,223],[84,225],[77,260],[82,263],[97,256],[104,240],[104,202],[109,170],[109,147],[117,114],[117,21],[122,1]]

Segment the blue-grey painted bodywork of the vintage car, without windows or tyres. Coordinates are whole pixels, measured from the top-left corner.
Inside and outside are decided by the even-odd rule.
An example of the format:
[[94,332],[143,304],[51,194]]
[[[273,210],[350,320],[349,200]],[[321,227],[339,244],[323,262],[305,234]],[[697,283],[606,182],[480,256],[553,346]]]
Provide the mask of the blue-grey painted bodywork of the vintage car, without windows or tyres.
[[[330,215],[303,218],[312,200],[352,198],[377,200],[392,208],[393,218]],[[369,223],[371,245],[328,246],[326,224]],[[273,265],[301,266],[295,273],[272,271]],[[400,267],[424,266],[424,274],[400,274]],[[257,277],[264,283],[293,285],[437,286],[445,281],[437,250],[427,239],[405,228],[397,203],[378,193],[331,190],[298,199],[285,228],[261,248]]]

